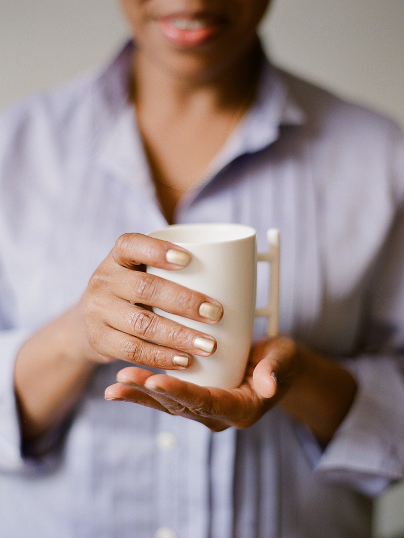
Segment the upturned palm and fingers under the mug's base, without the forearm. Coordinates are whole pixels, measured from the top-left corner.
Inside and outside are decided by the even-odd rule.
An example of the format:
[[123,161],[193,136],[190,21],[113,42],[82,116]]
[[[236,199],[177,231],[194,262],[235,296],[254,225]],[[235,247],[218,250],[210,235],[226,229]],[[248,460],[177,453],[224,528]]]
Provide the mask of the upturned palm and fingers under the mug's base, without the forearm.
[[262,341],[250,352],[246,377],[238,388],[200,387],[165,374],[127,367],[105,391],[108,400],[126,400],[181,415],[213,431],[247,428],[287,392],[299,372],[297,346],[287,337]]

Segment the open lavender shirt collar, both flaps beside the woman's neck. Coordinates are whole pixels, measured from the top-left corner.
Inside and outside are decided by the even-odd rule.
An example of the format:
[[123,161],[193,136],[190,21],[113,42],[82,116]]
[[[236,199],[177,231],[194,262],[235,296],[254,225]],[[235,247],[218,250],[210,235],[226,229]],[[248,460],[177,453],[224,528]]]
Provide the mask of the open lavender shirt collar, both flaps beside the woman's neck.
[[[128,43],[96,81],[97,162],[151,194],[154,187],[128,95],[133,47]],[[206,180],[240,155],[274,143],[281,125],[304,123],[305,112],[294,100],[282,73],[264,59],[256,100],[211,163]]]

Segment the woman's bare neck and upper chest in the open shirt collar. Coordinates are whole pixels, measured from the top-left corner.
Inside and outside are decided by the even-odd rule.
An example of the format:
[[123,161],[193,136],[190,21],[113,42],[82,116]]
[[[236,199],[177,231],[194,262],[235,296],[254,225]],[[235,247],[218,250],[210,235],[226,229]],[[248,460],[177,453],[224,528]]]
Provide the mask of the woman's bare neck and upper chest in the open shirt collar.
[[168,222],[255,97],[259,44],[217,76],[173,76],[137,52],[132,97],[156,192]]

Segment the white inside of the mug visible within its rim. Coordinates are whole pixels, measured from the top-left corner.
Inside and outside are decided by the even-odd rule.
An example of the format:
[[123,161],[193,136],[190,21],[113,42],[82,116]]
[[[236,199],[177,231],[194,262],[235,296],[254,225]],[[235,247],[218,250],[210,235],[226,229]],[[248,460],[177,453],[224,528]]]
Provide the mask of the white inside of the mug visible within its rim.
[[221,243],[254,236],[255,229],[244,224],[172,224],[148,235],[171,243]]

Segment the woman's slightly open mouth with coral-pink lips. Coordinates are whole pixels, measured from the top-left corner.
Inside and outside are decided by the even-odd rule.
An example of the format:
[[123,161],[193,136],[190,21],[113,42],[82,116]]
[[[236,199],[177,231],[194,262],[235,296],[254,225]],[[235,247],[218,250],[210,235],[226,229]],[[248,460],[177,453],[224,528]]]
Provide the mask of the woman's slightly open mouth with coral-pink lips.
[[158,22],[165,37],[179,46],[202,45],[224,26],[224,20],[218,17],[182,13],[163,17]]

